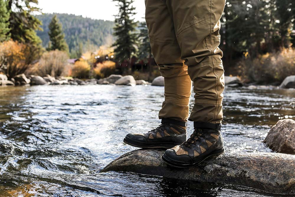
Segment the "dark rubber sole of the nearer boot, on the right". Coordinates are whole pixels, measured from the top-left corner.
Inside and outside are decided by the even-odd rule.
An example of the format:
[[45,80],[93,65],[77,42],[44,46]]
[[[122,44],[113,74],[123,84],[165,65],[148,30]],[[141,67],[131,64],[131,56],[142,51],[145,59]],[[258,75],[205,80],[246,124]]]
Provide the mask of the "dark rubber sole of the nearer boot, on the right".
[[187,168],[187,167],[199,165],[200,163],[202,163],[204,160],[208,159],[209,157],[219,156],[219,155],[223,154],[224,152],[225,152],[224,147],[222,147],[221,149],[217,149],[216,151],[213,151],[212,153],[207,155],[207,157],[205,157],[201,161],[197,161],[194,163],[180,163],[180,162],[177,162],[173,159],[169,159],[168,157],[165,156],[165,154],[162,155],[162,159],[166,164],[168,164],[170,166],[177,167],[177,168]]

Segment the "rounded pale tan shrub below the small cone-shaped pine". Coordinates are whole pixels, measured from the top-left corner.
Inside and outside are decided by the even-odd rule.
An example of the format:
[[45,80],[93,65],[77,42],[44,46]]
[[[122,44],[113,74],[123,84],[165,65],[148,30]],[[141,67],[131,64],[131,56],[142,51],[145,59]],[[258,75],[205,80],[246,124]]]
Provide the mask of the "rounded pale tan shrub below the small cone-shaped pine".
[[39,61],[39,74],[45,76],[61,76],[68,64],[68,54],[64,51],[49,51],[45,52]]

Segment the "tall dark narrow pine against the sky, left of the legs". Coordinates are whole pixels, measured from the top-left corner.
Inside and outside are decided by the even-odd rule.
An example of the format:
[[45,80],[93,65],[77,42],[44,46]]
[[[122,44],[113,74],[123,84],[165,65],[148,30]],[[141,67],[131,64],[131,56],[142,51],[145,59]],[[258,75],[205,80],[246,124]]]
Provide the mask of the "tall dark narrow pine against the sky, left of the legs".
[[135,8],[131,5],[133,0],[113,0],[118,1],[119,14],[115,16],[116,26],[114,35],[117,40],[112,46],[115,46],[115,57],[119,62],[128,61],[127,72],[130,72],[131,56],[136,53],[137,34],[135,32],[137,23],[132,19],[136,14]]

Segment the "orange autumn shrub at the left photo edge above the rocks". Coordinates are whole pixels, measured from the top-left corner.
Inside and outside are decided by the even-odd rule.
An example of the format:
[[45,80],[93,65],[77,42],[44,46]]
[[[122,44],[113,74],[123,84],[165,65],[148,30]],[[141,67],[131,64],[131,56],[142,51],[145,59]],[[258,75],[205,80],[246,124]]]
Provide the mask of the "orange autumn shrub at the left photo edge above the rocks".
[[12,40],[0,43],[0,68],[9,79],[31,66],[30,46]]

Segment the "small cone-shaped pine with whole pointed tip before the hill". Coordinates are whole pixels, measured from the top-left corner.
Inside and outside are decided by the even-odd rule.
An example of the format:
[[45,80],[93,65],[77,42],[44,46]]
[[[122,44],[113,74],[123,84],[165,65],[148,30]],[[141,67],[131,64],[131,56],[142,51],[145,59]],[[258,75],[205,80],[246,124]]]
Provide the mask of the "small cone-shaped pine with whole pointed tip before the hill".
[[51,50],[69,51],[68,45],[65,42],[65,34],[63,33],[62,25],[60,24],[56,15],[49,23],[49,39],[51,42]]

